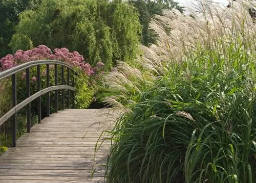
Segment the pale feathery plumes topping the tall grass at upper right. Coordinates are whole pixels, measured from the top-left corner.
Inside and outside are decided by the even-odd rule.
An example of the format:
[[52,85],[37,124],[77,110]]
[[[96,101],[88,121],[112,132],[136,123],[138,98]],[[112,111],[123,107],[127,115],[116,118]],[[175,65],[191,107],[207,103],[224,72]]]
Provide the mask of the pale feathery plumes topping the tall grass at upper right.
[[[150,27],[159,36],[159,50],[165,52],[172,61],[181,61],[187,53],[199,45],[224,51],[219,41],[238,41],[238,38],[248,41],[248,46],[252,46],[251,50],[256,50],[255,24],[252,23],[249,12],[243,8],[243,4],[223,10],[201,2],[199,5],[203,15],[196,15],[196,19],[166,10],[163,12],[164,16],[155,16]],[[170,31],[166,32],[166,30]]]

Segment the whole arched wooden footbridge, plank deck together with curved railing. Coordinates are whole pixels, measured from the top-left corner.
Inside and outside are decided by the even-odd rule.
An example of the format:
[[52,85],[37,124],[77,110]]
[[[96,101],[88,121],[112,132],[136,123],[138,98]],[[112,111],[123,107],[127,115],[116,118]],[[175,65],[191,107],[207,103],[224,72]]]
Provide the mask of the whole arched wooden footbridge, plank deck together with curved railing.
[[[42,64],[46,64],[47,71],[47,88],[45,89],[41,89],[40,83],[40,65]],[[54,86],[50,86],[50,64],[54,65]],[[57,65],[61,65],[60,85],[58,85]],[[37,92],[31,95],[29,68],[32,66],[37,66]],[[66,76],[64,67],[67,67]],[[24,69],[26,69],[27,98],[17,104],[16,73]],[[0,125],[9,118],[12,121],[12,147],[0,156],[1,183],[104,182],[104,164],[110,142],[105,140],[106,136],[102,132],[113,127],[115,116],[106,115],[109,114],[106,110],[70,109],[70,103],[75,108],[76,91],[74,77],[71,79],[70,70],[75,74],[72,68],[63,62],[46,60],[32,61],[0,72],[0,82],[11,76],[13,107],[0,118]],[[50,114],[50,92],[52,91],[55,91],[55,113]],[[59,92],[56,91],[60,91],[61,96],[58,96]],[[47,96],[47,117],[44,119],[41,119],[42,95]],[[59,97],[61,98],[58,100]],[[37,100],[38,124],[31,127],[33,100]],[[28,133],[16,139],[16,113],[25,107]],[[103,144],[101,144],[102,141],[104,141]]]

